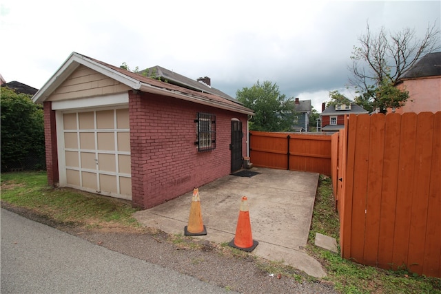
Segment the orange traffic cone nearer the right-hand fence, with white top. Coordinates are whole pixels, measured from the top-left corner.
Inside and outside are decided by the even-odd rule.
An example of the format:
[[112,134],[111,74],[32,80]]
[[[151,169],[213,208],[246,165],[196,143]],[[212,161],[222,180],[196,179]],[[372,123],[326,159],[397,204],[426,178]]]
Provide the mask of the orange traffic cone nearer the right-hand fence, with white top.
[[247,197],[242,197],[240,203],[239,218],[237,221],[236,235],[232,242],[229,242],[229,246],[234,248],[251,252],[256,248],[259,242],[253,240],[251,233],[251,221],[249,220],[249,211],[247,204]]

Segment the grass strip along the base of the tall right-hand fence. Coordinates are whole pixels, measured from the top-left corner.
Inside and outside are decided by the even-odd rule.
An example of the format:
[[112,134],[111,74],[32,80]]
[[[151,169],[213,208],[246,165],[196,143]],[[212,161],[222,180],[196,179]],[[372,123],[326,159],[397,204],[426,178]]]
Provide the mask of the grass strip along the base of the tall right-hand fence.
[[441,293],[441,279],[412,275],[406,270],[387,271],[356,264],[314,246],[316,233],[339,239],[338,214],[335,210],[331,179],[320,175],[314,216],[309,231],[309,254],[320,260],[326,279],[341,293]]

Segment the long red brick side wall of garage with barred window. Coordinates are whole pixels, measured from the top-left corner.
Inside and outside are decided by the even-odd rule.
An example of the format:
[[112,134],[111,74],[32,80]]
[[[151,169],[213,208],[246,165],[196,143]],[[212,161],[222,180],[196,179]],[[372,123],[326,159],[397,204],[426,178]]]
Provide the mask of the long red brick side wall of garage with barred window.
[[[149,208],[230,173],[231,120],[247,115],[147,93],[129,94],[132,201]],[[197,112],[216,115],[216,149],[198,152]]]

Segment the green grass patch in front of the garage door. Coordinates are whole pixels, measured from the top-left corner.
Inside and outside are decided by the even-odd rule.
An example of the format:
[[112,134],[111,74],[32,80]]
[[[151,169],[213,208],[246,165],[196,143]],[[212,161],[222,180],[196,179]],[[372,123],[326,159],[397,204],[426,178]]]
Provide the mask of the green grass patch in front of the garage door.
[[61,224],[86,228],[141,227],[132,217],[136,209],[129,201],[48,187],[44,171],[1,174],[1,201]]

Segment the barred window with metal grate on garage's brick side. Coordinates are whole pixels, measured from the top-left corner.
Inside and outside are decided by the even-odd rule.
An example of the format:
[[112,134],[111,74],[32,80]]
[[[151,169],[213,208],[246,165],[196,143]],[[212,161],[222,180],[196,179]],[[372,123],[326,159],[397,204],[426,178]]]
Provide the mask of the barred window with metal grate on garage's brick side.
[[198,112],[196,120],[196,142],[198,151],[208,151],[216,148],[216,116]]

